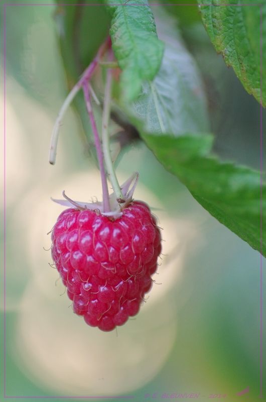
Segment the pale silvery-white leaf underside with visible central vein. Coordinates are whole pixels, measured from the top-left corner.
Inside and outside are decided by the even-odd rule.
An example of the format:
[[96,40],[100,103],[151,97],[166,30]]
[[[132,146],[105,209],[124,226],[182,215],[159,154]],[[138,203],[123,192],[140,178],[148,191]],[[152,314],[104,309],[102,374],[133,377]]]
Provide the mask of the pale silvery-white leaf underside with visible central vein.
[[154,13],[158,36],[165,42],[162,65],[154,81],[143,84],[127,113],[141,119],[142,129],[154,134],[206,132],[206,98],[197,65],[184,46],[176,20],[159,8]]

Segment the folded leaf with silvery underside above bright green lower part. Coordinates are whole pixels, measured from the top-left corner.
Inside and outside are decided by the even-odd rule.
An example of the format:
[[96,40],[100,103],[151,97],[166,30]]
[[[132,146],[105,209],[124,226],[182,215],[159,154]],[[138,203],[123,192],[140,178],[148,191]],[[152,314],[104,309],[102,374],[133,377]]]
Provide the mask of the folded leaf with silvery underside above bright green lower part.
[[[160,11],[156,24],[166,43],[163,63],[152,85],[144,85],[138,100],[127,107],[128,116],[158,160],[194,198],[260,250],[260,175],[211,155],[213,137],[199,133],[207,132],[208,119],[197,67],[171,19]],[[266,195],[265,189],[263,185]]]

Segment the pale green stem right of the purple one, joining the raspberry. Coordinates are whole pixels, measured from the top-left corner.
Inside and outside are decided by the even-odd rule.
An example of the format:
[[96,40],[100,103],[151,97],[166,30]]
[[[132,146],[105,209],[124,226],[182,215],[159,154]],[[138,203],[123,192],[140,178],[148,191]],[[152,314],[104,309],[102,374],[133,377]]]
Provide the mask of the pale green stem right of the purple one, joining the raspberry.
[[106,170],[112,183],[112,188],[115,193],[116,199],[123,199],[123,194],[114,171],[110,153],[108,124],[109,124],[110,106],[111,106],[110,105],[111,88],[112,88],[112,71],[110,68],[108,68],[106,71],[106,84],[104,89],[104,101],[103,101],[103,112],[102,112],[102,148],[103,148]]

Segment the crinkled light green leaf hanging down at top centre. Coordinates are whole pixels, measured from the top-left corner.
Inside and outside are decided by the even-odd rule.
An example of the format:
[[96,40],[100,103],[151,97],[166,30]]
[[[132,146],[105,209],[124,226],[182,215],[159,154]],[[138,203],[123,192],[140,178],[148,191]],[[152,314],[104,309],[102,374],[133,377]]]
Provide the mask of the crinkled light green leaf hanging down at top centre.
[[121,87],[127,101],[134,100],[144,80],[157,74],[164,52],[164,44],[156,33],[154,17],[145,0],[106,0],[112,22],[112,48],[122,70]]

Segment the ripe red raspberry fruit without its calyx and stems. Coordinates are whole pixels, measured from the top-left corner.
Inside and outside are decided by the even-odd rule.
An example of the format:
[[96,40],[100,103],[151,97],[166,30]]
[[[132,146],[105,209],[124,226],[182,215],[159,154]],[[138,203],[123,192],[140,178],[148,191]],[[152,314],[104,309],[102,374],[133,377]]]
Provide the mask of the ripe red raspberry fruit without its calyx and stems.
[[139,312],[160,253],[160,230],[141,201],[131,202],[115,221],[92,210],[67,209],[52,232],[52,257],[74,313],[102,331]]

